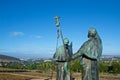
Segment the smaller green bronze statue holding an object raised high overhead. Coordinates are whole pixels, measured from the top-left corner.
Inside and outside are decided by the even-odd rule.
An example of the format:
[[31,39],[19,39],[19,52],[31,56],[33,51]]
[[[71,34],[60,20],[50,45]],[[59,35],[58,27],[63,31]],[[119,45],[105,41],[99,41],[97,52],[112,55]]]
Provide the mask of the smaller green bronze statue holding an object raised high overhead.
[[[63,38],[62,31],[60,29],[60,22],[58,16],[56,19],[56,27],[57,30],[57,44],[56,44],[56,52],[53,56],[56,61],[57,66],[57,75],[56,80],[70,80],[70,69],[69,69],[69,61],[67,59],[72,56],[72,43],[69,44],[69,40],[67,38]],[[58,46],[58,39],[61,38],[63,45]]]

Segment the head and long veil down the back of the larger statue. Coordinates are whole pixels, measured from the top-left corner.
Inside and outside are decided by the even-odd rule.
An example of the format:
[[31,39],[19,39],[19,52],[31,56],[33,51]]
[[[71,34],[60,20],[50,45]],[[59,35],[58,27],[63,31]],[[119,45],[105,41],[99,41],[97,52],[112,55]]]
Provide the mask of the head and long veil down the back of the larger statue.
[[90,28],[88,30],[88,38],[90,39],[89,42],[91,42],[91,46],[93,46],[91,49],[92,54],[95,54],[99,59],[102,55],[102,41],[95,28]]

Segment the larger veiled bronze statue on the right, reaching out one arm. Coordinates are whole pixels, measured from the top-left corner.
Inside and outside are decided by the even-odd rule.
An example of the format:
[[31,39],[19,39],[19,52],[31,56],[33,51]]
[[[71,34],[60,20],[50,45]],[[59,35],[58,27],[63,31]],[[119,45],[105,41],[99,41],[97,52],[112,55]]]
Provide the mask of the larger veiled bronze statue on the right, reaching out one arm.
[[95,28],[89,29],[88,38],[72,59],[81,59],[82,80],[99,80],[98,61],[102,55],[102,41]]

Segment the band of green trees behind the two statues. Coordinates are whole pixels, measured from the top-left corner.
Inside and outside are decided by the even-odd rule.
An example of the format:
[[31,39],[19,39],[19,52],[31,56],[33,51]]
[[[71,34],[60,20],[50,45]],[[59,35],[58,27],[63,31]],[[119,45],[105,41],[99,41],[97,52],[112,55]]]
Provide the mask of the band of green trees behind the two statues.
[[[37,62],[25,62],[24,64],[10,63],[4,67],[12,69],[36,70],[38,72],[56,71],[55,62],[44,62],[43,60]],[[82,66],[80,65],[79,59],[70,62],[70,70],[71,72],[81,72]],[[100,61],[99,72],[120,73],[120,61]]]

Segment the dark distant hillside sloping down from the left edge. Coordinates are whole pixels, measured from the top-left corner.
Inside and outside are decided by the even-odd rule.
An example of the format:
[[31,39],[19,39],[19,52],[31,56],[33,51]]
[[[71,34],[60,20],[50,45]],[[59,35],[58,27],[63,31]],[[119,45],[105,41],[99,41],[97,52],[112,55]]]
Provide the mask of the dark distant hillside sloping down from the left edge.
[[18,61],[20,61],[18,58],[0,54],[0,62],[18,62]]

